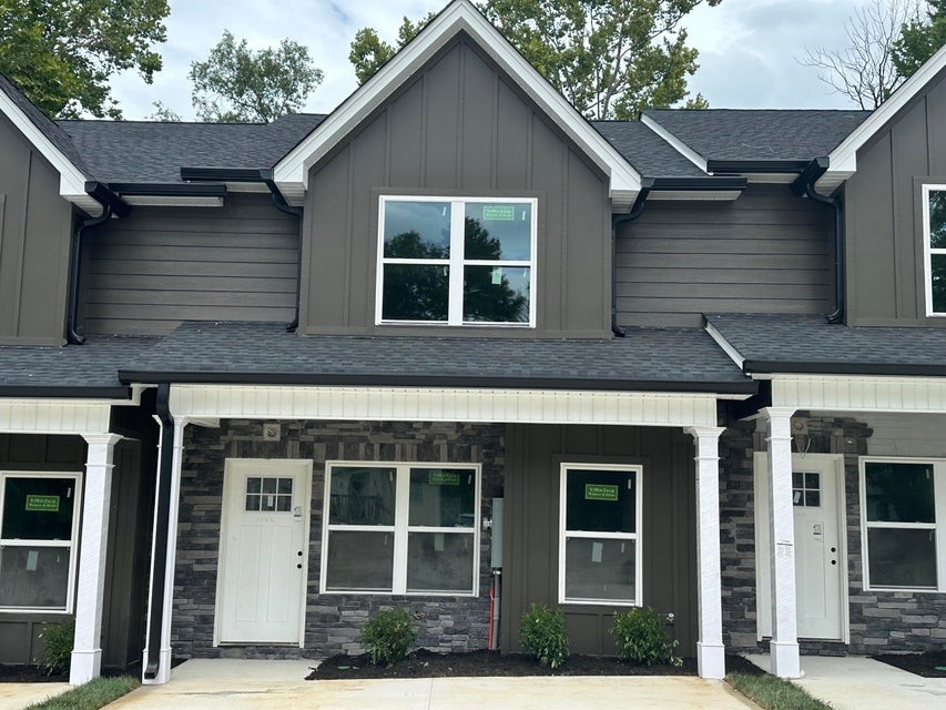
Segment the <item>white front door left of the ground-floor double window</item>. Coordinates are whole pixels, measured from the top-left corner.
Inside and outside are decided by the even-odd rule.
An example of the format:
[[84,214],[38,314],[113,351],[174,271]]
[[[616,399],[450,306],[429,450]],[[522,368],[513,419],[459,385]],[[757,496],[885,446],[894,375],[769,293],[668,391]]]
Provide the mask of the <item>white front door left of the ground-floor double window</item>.
[[227,459],[218,643],[302,643],[312,462]]

